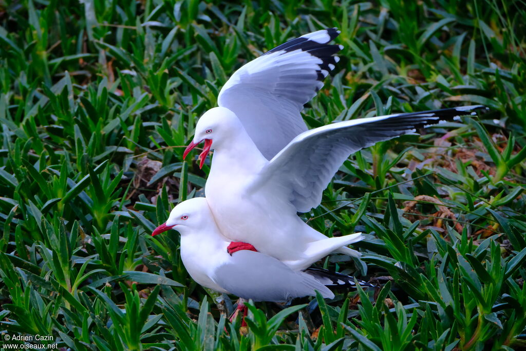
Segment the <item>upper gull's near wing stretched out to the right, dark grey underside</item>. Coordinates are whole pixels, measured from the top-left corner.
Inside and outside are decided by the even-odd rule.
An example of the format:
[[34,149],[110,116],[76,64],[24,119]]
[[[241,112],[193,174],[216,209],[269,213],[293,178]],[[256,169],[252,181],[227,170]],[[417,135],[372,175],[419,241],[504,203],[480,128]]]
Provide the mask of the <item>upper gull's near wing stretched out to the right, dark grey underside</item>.
[[320,204],[323,189],[350,154],[480,108],[483,106],[360,118],[311,129],[272,158],[251,189],[268,185],[275,190],[272,194],[283,196],[298,212],[308,212]]

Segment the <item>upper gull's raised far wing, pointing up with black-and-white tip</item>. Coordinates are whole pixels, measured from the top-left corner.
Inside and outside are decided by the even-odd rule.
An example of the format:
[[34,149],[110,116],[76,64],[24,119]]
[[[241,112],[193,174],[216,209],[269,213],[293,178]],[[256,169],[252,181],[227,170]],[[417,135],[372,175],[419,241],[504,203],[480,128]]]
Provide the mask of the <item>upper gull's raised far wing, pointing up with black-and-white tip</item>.
[[341,45],[328,45],[340,32],[323,29],[292,39],[239,68],[222,87],[219,106],[234,112],[261,153],[274,157],[307,126],[303,105],[335,68]]

